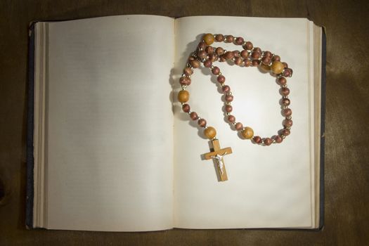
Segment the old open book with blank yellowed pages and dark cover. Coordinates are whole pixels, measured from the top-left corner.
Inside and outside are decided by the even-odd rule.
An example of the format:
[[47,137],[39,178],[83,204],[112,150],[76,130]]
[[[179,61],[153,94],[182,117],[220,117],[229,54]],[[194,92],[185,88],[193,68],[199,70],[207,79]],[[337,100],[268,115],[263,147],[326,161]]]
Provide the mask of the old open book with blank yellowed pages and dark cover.
[[[217,130],[228,181],[202,160],[209,141],[176,101],[204,33],[277,53],[294,126],[283,143],[242,140],[202,67],[190,105]],[[216,43],[227,49],[240,46]],[[35,22],[30,32],[27,226],[88,231],[321,228],[325,36],[304,18],[121,15]],[[216,63],[234,115],[261,136],[282,128],[279,86],[256,67]]]

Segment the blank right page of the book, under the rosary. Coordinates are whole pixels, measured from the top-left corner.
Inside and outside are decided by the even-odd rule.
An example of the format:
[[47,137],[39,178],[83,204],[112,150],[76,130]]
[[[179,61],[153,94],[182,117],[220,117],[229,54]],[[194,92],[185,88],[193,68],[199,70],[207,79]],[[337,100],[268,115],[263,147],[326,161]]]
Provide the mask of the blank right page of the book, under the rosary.
[[[191,110],[216,129],[224,156],[228,181],[219,182],[209,153],[209,141],[196,122],[176,103],[174,115],[174,226],[179,228],[311,228],[314,226],[314,175],[311,151],[311,69],[309,20],[300,18],[189,17],[176,20],[176,69],[181,75],[186,59],[205,33],[233,34],[252,41],[263,51],[281,57],[293,69],[287,78],[293,126],[283,143],[261,146],[240,138],[226,121],[216,77],[208,68],[192,75]],[[242,46],[214,43],[227,50]],[[262,137],[283,129],[280,86],[257,67],[220,67],[231,87],[236,122],[252,127]],[[179,76],[176,91],[179,91]],[[312,155],[313,156],[313,155]]]

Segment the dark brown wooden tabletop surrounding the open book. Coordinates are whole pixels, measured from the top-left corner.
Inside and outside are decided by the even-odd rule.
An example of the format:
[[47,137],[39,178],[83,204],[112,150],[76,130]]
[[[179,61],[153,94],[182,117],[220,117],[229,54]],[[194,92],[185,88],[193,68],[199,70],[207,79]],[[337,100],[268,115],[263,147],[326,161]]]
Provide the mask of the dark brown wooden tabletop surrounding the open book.
[[[1,0],[0,245],[369,245],[368,12],[369,1]],[[323,231],[25,229],[27,26],[123,14],[303,17],[327,28]]]

